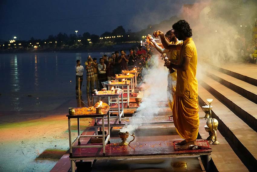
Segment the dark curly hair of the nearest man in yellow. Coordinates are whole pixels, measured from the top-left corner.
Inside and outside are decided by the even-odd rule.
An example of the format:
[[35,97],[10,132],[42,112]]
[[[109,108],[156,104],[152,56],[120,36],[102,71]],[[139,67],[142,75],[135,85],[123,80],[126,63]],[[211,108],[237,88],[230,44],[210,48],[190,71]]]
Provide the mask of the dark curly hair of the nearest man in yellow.
[[172,28],[175,31],[181,32],[181,34],[183,34],[186,37],[191,37],[193,35],[192,34],[192,29],[190,28],[190,25],[185,20],[179,20],[178,22],[174,23],[172,25]]

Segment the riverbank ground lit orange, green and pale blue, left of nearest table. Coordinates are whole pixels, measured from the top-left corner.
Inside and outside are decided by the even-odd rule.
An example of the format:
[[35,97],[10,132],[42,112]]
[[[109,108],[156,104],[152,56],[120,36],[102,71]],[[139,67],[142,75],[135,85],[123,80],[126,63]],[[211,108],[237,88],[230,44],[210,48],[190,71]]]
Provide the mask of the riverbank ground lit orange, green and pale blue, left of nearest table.
[[[81,131],[91,121],[81,119]],[[71,122],[75,136],[76,120]],[[0,124],[0,130],[0,171],[50,171],[69,149],[66,114]]]

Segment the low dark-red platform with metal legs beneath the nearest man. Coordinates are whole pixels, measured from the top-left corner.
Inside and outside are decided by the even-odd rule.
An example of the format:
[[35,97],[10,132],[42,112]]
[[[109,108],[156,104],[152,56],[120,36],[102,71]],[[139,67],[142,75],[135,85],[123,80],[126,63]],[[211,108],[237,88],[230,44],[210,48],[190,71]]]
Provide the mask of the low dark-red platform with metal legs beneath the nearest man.
[[[127,146],[119,146],[119,143],[111,143],[106,145],[106,154],[103,156],[102,149],[78,148],[73,150],[70,160],[72,166],[75,166],[76,160],[104,160],[104,159],[129,159],[129,158],[167,158],[182,156],[205,156],[207,168],[210,164],[210,155],[212,149],[205,150],[180,150],[175,151],[173,142],[171,141],[149,141],[149,142],[131,142]],[[72,169],[72,172],[75,170]]]

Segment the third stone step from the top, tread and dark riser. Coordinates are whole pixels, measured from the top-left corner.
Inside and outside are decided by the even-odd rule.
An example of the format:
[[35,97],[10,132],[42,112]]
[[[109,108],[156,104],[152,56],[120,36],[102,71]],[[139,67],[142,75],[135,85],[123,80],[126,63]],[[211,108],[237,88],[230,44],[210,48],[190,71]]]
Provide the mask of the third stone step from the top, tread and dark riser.
[[217,81],[205,77],[201,85],[240,117],[248,126],[257,132],[257,104],[223,86]]

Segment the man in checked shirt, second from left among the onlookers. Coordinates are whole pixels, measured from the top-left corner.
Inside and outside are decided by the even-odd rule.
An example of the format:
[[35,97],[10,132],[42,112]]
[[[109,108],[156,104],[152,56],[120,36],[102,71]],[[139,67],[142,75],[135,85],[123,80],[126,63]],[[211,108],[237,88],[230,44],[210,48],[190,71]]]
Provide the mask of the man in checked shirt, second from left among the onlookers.
[[[87,66],[86,66],[86,93],[89,94],[89,87],[91,92],[94,89],[95,76],[93,71],[93,60],[90,56],[87,58]],[[90,85],[90,86],[89,86]]]

